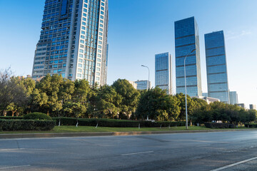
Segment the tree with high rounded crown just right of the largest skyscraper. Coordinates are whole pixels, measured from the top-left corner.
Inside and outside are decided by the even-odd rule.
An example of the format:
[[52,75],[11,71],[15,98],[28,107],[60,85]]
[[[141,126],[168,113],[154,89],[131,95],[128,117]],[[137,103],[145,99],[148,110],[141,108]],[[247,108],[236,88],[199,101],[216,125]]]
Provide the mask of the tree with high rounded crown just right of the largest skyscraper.
[[119,103],[118,108],[121,112],[119,112],[119,118],[129,118],[131,113],[136,110],[136,105],[138,103],[138,97],[140,93],[138,90],[133,88],[131,83],[127,80],[118,79],[114,81],[112,85],[116,92],[121,95],[121,103]]

